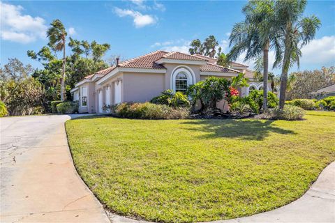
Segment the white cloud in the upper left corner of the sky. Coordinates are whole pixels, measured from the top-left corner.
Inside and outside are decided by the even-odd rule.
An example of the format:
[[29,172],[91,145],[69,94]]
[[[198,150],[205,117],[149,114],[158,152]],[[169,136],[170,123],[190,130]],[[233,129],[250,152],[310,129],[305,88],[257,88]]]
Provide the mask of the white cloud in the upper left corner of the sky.
[[22,15],[22,6],[0,2],[1,39],[17,43],[30,43],[45,38],[45,20],[41,17]]

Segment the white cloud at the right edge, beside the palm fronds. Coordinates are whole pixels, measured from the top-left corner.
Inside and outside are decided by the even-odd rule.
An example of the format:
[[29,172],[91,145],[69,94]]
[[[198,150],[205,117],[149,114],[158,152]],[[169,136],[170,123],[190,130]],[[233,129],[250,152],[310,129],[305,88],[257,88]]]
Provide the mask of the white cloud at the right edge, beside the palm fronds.
[[306,64],[322,66],[334,66],[335,64],[335,36],[323,36],[312,40],[311,43],[301,49],[302,56],[300,66]]

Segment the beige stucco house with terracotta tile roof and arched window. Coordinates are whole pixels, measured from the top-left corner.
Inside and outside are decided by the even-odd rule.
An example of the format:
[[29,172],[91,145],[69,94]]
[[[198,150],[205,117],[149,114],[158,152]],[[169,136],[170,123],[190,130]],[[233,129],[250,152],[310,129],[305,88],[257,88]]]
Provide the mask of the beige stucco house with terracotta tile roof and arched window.
[[[262,88],[247,68],[240,63],[224,68],[216,65],[216,59],[198,54],[156,51],[84,77],[70,92],[73,100],[79,101],[80,113],[103,113],[104,105],[146,102],[167,89],[186,91],[188,85],[210,76],[230,79],[244,72],[250,86],[239,92],[245,96],[249,88]],[[223,102],[218,103],[218,107],[222,106]]]

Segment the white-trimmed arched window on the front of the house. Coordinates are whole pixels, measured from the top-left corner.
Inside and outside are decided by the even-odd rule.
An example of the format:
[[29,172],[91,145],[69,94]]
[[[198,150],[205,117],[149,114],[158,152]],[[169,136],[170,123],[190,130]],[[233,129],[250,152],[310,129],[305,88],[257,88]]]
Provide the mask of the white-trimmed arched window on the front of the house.
[[171,89],[186,93],[187,87],[194,84],[193,73],[185,67],[176,68],[171,76]]

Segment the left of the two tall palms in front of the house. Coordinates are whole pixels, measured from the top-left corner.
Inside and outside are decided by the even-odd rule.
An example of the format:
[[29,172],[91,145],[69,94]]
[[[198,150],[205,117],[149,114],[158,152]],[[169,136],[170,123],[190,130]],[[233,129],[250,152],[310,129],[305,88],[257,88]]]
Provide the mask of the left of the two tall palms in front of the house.
[[267,110],[267,84],[269,70],[269,49],[276,49],[276,63],[281,61],[281,47],[277,38],[274,1],[249,1],[242,12],[246,16],[244,22],[234,25],[230,33],[230,46],[234,45],[229,53],[229,59],[235,61],[243,52],[246,52],[245,61],[259,59],[262,56],[263,69],[263,109]]

